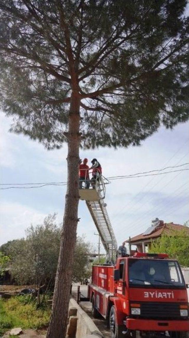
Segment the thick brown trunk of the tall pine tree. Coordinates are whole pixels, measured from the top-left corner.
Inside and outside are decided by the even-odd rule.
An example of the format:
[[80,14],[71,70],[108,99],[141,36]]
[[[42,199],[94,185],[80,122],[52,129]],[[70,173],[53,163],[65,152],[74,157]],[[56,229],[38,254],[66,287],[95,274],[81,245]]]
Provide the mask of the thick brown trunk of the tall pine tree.
[[76,243],[76,231],[78,223],[79,203],[79,107],[80,98],[77,92],[72,92],[69,130],[68,130],[68,179],[65,197],[65,209],[63,228],[60,243],[60,253],[56,272],[52,315],[47,338],[64,338],[68,320],[68,307],[70,299],[70,287],[72,282],[72,268],[74,261],[74,249]]

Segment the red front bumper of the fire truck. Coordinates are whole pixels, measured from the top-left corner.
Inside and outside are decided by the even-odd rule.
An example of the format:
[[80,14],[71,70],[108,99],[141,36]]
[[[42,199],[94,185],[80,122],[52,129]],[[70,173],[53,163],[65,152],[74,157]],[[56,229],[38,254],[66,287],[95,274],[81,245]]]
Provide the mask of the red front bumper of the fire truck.
[[139,331],[189,331],[189,320],[147,320],[127,318],[129,330]]

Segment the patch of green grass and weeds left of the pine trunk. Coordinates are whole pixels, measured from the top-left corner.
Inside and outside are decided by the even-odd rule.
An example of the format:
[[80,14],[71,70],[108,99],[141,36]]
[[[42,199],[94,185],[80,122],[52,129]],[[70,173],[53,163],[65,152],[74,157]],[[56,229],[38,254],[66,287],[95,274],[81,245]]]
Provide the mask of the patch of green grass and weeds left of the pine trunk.
[[35,301],[29,296],[0,299],[0,337],[12,328],[40,329],[47,327],[51,309],[43,306],[36,310]]

